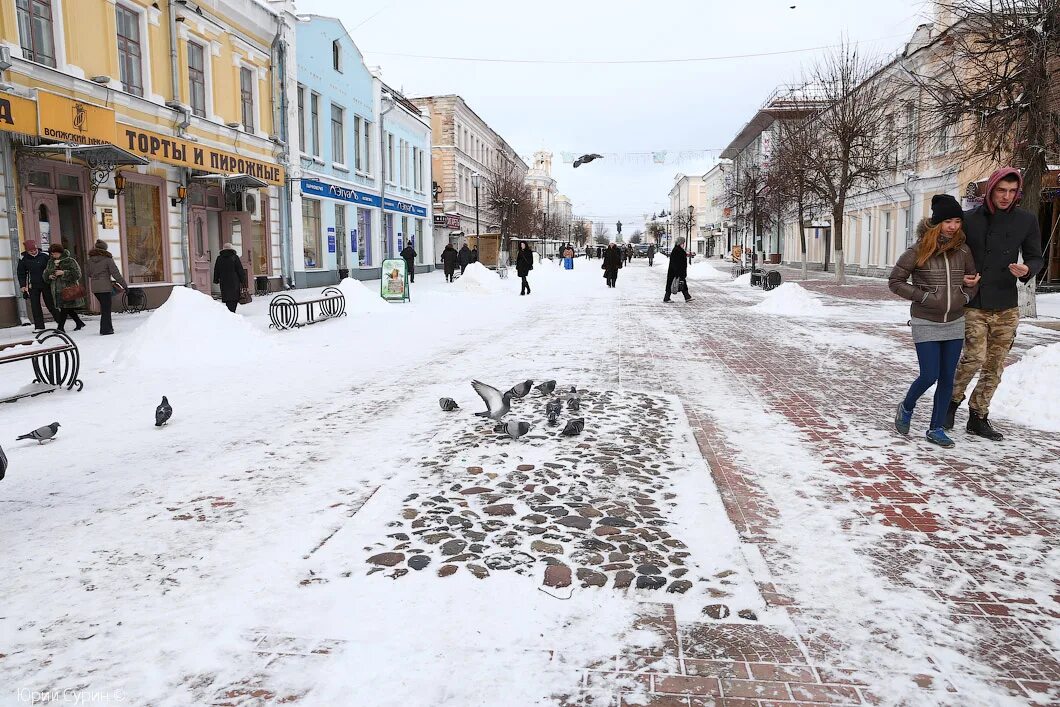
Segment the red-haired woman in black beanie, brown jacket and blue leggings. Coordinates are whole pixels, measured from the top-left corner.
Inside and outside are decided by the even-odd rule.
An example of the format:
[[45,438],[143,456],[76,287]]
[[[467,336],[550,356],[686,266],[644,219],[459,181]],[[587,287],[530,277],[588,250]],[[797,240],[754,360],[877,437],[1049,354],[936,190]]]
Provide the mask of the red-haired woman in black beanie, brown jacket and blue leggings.
[[902,435],[909,434],[913,408],[935,386],[926,437],[942,447],[953,446],[942,427],[965,346],[965,306],[976,295],[979,283],[975,259],[966,243],[962,216],[957,199],[949,194],[933,196],[931,219],[920,223],[917,242],[898,259],[887,281],[890,291],[913,302],[909,324],[920,365],[920,375],[898,404],[895,428]]

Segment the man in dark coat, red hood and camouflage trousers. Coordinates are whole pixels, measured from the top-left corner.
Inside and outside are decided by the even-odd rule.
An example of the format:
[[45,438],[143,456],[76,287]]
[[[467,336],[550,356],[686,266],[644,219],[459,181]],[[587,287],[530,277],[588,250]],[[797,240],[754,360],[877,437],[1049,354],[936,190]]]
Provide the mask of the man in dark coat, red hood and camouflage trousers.
[[[968,431],[999,442],[990,426],[990,400],[1001,383],[1005,357],[1020,323],[1015,281],[1029,282],[1044,267],[1038,217],[1015,202],[1023,188],[1018,170],[1002,167],[987,180],[986,200],[965,212],[968,247],[979,270],[979,291],[965,308],[965,349],[953,379],[953,399],[943,427],[952,429],[965,390],[976,373],[979,382],[968,401]],[[1017,262],[1023,255],[1023,262]]]

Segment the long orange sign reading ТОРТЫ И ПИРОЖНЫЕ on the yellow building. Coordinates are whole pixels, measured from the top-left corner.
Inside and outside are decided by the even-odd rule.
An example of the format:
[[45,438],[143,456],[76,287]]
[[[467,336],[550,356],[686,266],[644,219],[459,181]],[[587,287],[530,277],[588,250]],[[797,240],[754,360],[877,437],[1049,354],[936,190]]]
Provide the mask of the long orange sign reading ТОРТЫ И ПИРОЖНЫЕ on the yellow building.
[[241,157],[223,149],[119,123],[118,146],[152,160],[215,174],[248,174],[277,187],[284,184],[283,167]]

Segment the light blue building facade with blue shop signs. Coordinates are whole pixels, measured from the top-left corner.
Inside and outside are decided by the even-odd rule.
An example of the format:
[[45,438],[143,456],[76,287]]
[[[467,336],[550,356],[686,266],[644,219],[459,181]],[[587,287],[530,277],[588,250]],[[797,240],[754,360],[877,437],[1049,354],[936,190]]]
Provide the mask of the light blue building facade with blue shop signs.
[[[377,279],[385,258],[430,233],[430,129],[368,70],[339,20],[299,20],[288,109],[295,286]],[[432,250],[418,262],[434,263]]]

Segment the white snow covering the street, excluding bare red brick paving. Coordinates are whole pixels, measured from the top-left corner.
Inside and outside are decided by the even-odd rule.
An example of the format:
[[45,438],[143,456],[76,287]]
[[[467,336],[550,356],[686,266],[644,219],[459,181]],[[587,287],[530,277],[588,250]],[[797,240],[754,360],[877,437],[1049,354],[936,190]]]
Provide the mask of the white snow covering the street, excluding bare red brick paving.
[[[0,703],[69,689],[137,705],[559,705],[616,691],[650,704],[659,678],[638,679],[621,656],[691,674],[692,657],[706,665],[726,648],[699,640],[694,653],[685,636],[671,655],[644,617],[672,612],[697,625],[721,606],[710,611],[724,631],[772,631],[811,657],[799,617],[842,607],[830,639],[888,675],[860,673],[885,703],[1024,704],[958,654],[974,636],[937,599],[881,583],[862,551],[882,528],[846,536],[850,505],[829,496],[831,460],[721,365],[720,351],[750,341],[711,323],[738,313],[767,339],[813,352],[823,379],[845,381],[846,357],[913,370],[912,346],[896,343],[907,308],[797,283],[766,294],[706,263],[690,271],[696,299],[664,305],[664,276],[638,262],[608,289],[596,261],[573,271],[545,261],[519,297],[516,278],[473,267],[453,284],[418,277],[405,304],[347,281],[348,317],[288,332],[268,329],[267,299],[233,316],[190,290],[119,316],[114,336],[89,320],[74,335],[84,391],[0,407],[11,462],[0,484]],[[1031,336],[1052,346],[1019,379],[1044,385],[1060,344]],[[29,377],[29,366],[0,367],[0,390]],[[531,434],[497,436],[472,414],[472,378],[575,386],[583,409],[561,422],[582,416],[586,430],[560,438],[543,419],[547,399],[531,393],[512,413],[534,423]],[[175,412],[156,428],[163,394]],[[460,409],[442,412],[441,396]],[[53,420],[54,441],[14,442]],[[756,479],[779,503],[771,529],[734,527],[701,455],[708,426],[741,464],[771,470]],[[884,425],[872,435],[880,449],[893,444]],[[883,455],[864,444],[833,454]],[[1055,560],[1026,580],[1043,601]],[[802,614],[763,598],[774,563],[791,566]],[[576,570],[569,586],[546,581],[551,565]],[[908,570],[921,584],[930,575]],[[665,581],[622,586],[623,572]],[[895,634],[887,646],[884,634]],[[616,656],[617,671],[586,683],[585,668]],[[949,682],[926,691],[890,677],[933,670]]]

